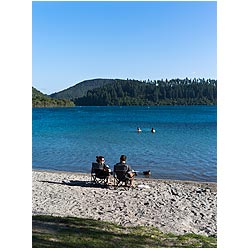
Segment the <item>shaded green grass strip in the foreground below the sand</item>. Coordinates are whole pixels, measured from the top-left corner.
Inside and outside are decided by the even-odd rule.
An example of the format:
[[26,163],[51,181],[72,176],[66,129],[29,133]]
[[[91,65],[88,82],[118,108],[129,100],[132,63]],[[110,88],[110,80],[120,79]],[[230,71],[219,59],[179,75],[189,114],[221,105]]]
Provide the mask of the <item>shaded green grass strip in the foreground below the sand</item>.
[[154,227],[123,227],[100,220],[36,215],[32,247],[39,248],[215,248],[217,240],[196,234],[164,234]]

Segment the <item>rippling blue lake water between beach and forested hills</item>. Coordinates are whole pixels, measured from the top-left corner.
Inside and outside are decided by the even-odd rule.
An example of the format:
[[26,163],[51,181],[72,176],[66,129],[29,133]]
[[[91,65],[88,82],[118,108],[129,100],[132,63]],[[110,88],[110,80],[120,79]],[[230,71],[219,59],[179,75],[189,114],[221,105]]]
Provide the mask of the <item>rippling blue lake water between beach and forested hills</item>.
[[89,173],[125,154],[150,178],[217,180],[216,106],[33,108],[32,140],[33,169]]

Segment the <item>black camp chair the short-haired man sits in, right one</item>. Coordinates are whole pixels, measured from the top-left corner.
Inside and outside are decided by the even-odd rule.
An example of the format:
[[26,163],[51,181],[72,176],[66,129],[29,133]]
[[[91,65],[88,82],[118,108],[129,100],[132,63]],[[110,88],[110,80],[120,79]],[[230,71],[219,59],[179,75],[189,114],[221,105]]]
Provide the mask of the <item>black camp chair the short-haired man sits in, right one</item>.
[[117,188],[119,186],[128,187],[128,182],[133,180],[134,177],[128,176],[128,165],[126,164],[116,164],[114,165],[114,187]]

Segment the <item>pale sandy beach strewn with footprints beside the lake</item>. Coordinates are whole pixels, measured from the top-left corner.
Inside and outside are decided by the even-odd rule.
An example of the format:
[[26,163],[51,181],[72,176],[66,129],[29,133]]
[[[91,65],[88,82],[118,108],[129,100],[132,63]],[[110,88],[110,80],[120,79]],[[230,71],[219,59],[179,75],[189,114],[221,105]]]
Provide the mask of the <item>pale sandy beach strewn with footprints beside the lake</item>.
[[216,183],[136,178],[134,185],[103,188],[93,186],[89,174],[33,170],[32,214],[217,235]]

